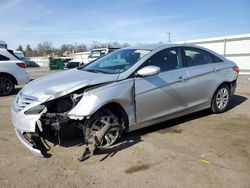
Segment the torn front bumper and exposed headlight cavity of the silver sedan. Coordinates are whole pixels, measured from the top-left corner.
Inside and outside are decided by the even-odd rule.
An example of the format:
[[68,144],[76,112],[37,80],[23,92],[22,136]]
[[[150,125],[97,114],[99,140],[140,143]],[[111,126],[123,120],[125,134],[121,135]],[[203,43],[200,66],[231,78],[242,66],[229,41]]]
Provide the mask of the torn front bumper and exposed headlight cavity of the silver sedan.
[[20,91],[12,106],[12,122],[19,140],[32,153],[49,157],[49,146],[44,138],[72,138],[82,134],[81,121],[70,119],[68,113],[84,95],[84,89],[56,99],[41,102]]

